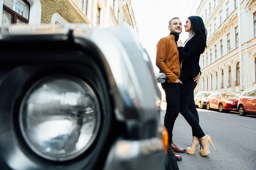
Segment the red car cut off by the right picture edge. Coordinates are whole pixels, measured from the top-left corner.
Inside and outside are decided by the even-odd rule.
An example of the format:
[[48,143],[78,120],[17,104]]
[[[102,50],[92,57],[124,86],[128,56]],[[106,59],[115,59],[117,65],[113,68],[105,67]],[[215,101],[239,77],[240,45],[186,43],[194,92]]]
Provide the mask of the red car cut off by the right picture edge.
[[241,116],[256,115],[256,87],[247,88],[239,97],[238,111]]

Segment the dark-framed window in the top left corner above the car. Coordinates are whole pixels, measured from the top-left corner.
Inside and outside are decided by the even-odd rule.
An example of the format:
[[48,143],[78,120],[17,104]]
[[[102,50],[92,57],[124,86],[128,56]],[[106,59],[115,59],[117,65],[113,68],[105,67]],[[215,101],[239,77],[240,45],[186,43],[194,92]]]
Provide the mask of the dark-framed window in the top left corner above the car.
[[29,23],[29,8],[26,0],[3,0],[2,26]]

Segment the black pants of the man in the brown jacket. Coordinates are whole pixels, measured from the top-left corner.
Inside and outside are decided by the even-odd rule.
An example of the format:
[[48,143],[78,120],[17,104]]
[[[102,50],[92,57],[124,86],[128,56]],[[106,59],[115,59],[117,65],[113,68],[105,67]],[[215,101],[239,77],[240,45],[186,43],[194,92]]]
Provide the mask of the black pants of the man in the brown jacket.
[[172,130],[175,120],[180,112],[180,83],[168,83],[167,80],[161,83],[166,94],[166,114],[164,117],[164,126],[169,135],[169,144],[172,144]]

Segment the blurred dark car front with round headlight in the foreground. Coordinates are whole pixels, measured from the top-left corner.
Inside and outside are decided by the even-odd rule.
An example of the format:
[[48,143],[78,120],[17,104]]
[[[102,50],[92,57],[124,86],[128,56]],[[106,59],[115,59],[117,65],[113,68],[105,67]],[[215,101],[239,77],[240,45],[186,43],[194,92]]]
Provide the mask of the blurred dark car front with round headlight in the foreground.
[[10,26],[0,46],[0,169],[166,168],[161,94],[131,26]]

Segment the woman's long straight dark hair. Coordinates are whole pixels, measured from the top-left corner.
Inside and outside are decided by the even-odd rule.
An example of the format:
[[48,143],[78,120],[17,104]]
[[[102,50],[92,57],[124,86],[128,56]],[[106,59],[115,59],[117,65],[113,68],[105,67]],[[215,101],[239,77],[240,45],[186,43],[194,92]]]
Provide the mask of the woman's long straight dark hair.
[[[203,37],[204,40],[204,49],[207,47],[206,40],[207,40],[207,30],[204,26],[204,21],[199,16],[190,16],[188,17],[191,23],[191,33],[198,34]],[[204,50],[201,52],[204,53]]]

